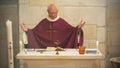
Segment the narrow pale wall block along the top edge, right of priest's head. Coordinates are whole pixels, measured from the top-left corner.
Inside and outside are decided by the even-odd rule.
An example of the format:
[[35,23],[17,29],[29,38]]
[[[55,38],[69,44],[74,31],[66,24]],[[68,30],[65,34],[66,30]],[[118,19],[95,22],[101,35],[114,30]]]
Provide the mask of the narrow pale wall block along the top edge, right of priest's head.
[[106,6],[106,0],[57,0],[60,6]]

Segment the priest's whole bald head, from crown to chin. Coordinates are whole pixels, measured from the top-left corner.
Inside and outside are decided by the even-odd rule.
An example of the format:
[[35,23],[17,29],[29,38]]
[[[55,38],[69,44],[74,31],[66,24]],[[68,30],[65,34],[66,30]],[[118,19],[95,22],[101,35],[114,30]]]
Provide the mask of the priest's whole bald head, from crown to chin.
[[57,17],[58,9],[55,4],[50,4],[48,6],[48,15],[51,19],[55,19]]

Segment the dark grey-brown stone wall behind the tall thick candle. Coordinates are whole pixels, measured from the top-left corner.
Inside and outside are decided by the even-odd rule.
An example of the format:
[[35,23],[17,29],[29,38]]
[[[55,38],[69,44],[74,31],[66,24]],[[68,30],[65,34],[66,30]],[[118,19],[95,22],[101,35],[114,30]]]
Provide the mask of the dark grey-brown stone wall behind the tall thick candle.
[[13,27],[13,46],[14,46],[14,63],[18,68],[18,61],[15,56],[19,52],[19,29],[18,29],[18,1],[17,0],[0,0],[0,68],[8,68],[8,45],[6,21],[12,21]]

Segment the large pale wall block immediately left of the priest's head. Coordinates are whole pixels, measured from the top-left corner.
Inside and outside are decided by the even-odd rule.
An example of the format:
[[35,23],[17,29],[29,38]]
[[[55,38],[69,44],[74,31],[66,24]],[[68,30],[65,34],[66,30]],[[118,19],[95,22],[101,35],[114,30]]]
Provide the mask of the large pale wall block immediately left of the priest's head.
[[47,17],[46,7],[20,7],[20,23],[38,24],[43,18]]

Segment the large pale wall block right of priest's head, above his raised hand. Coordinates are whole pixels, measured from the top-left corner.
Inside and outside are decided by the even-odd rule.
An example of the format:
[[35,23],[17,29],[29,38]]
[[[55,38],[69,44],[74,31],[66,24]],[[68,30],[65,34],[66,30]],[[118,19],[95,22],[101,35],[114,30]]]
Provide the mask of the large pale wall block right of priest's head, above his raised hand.
[[64,7],[63,18],[77,25],[81,20],[87,24],[105,25],[105,8],[101,7]]

